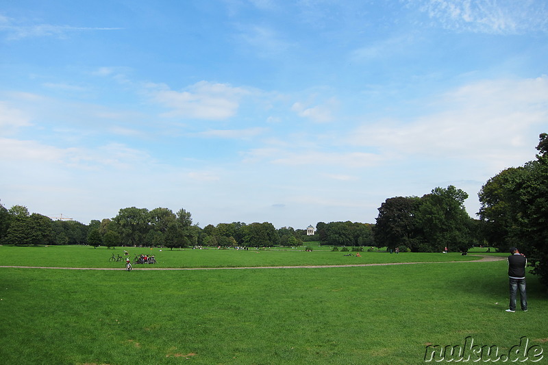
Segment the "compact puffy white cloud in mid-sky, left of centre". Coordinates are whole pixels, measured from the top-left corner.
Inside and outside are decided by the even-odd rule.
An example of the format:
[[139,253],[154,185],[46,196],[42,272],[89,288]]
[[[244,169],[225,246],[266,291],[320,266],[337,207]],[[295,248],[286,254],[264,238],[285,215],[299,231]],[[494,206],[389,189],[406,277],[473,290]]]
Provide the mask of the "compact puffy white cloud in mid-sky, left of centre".
[[171,109],[163,116],[206,120],[223,120],[234,116],[238,112],[240,98],[249,93],[243,88],[208,81],[200,81],[180,92],[166,86],[154,87],[156,90],[151,91],[153,100]]

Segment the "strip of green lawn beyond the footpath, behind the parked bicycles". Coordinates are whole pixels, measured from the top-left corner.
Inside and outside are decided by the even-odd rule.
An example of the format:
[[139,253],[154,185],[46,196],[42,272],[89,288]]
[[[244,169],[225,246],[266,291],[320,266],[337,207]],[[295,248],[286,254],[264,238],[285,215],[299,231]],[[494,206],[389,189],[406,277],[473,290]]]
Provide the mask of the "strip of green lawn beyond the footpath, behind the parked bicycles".
[[[123,262],[108,262],[114,255],[129,252],[132,259],[140,253],[152,253],[163,268],[208,268],[239,266],[314,266],[343,264],[383,264],[389,262],[445,262],[472,261],[480,257],[461,256],[460,253],[386,253],[362,252],[362,257],[345,256],[351,252],[297,251],[297,250],[256,250],[237,251],[234,249],[169,249],[116,248],[94,249],[89,246],[49,246],[49,247],[0,247],[0,257],[5,266],[49,266],[79,268],[123,268]],[[355,253],[352,253],[355,254]],[[493,254],[496,255],[496,254]],[[147,265],[136,265],[146,268]]]

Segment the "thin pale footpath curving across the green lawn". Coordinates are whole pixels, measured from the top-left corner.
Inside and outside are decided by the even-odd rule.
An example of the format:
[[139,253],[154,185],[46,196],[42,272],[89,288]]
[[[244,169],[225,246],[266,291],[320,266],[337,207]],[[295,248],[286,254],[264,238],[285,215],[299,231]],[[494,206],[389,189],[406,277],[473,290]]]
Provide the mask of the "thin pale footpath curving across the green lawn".
[[[314,265],[314,266],[245,266],[245,267],[212,267],[212,268],[135,268],[134,270],[242,270],[249,268],[336,268],[336,267],[362,267],[362,266],[388,266],[388,265],[412,265],[412,264],[447,264],[457,262],[494,262],[506,260],[506,257],[489,255],[470,255],[482,257],[473,261],[442,261],[442,262],[388,262],[385,264],[347,264],[347,265]],[[56,268],[62,270],[125,270],[123,268],[70,268],[70,267],[47,267],[47,266],[0,266],[0,268]]]

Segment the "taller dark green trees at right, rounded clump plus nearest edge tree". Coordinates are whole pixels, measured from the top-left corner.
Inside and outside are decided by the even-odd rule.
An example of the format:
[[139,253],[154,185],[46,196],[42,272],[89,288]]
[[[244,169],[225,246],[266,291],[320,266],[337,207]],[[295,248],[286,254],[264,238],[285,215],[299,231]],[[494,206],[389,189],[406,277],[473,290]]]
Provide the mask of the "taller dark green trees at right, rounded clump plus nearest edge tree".
[[519,247],[548,286],[548,134],[539,140],[536,160],[506,168],[482,186],[479,219],[466,213],[468,194],[455,186],[386,199],[373,227],[377,246],[418,252],[466,251],[474,244],[503,252]]

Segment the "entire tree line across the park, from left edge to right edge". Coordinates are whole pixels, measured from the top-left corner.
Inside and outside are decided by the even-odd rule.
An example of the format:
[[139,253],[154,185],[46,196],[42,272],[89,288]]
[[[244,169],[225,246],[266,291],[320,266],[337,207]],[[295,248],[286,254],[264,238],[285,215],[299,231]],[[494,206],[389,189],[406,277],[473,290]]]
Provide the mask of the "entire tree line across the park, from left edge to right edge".
[[115,247],[299,246],[319,241],[334,246],[376,246],[400,251],[439,252],[445,247],[466,251],[486,244],[506,251],[517,246],[548,284],[548,137],[540,134],[536,160],[506,168],[479,192],[479,219],[464,208],[468,194],[455,186],[434,188],[423,197],[392,197],[378,208],[375,224],[331,222],[305,229],[264,223],[219,223],[200,228],[190,212],[168,208],[127,207],[114,218],[91,221],[52,221],[30,214],[27,207],[9,210],[0,204],[0,242],[8,244],[91,244]]

